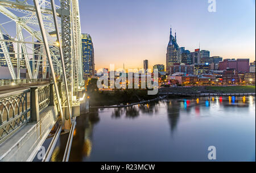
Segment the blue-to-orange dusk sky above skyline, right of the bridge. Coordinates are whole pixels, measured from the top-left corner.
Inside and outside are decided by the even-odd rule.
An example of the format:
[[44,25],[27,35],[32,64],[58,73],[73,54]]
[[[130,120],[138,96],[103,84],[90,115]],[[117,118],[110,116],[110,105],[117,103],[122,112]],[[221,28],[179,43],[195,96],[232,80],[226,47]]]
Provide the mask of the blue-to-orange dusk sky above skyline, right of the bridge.
[[179,47],[210,50],[210,56],[255,61],[255,1],[80,0],[82,33],[94,44],[96,70],[143,67],[143,60],[166,65],[170,35]]

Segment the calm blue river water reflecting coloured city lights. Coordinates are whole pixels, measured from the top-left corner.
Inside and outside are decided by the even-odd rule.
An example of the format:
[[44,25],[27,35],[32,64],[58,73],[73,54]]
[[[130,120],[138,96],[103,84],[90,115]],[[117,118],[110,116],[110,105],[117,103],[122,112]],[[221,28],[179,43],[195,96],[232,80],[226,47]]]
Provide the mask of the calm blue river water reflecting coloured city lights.
[[[255,97],[169,99],[77,117],[69,161],[255,161]],[[60,161],[67,136],[52,161]]]

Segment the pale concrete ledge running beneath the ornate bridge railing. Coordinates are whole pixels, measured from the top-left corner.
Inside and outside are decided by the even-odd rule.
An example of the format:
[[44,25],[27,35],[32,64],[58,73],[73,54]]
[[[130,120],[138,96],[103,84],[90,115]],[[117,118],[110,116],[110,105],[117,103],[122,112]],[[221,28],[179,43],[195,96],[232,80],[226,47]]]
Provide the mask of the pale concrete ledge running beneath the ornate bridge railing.
[[57,108],[46,107],[37,123],[27,123],[0,144],[0,162],[32,161],[57,120]]

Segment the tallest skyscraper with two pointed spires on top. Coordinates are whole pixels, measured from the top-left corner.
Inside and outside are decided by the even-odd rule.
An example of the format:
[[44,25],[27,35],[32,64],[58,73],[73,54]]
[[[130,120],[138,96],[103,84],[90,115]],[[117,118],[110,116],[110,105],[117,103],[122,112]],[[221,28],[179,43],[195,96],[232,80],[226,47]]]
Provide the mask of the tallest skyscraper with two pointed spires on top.
[[166,53],[166,72],[170,73],[170,66],[174,65],[175,63],[180,63],[180,48],[177,45],[176,40],[176,32],[175,37],[172,36],[172,28],[170,31],[170,40],[167,46],[167,53]]

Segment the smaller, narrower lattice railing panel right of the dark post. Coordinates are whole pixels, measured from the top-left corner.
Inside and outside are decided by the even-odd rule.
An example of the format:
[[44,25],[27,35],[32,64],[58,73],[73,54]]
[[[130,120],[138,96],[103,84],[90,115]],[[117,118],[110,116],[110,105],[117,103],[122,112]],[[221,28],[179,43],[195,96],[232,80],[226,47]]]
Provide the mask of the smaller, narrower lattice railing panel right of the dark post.
[[39,111],[49,106],[50,103],[50,87],[49,85],[38,88]]

